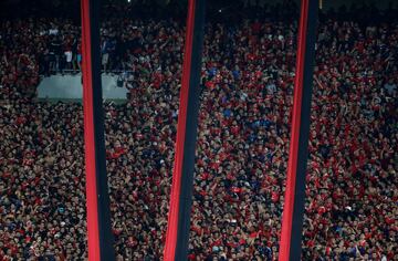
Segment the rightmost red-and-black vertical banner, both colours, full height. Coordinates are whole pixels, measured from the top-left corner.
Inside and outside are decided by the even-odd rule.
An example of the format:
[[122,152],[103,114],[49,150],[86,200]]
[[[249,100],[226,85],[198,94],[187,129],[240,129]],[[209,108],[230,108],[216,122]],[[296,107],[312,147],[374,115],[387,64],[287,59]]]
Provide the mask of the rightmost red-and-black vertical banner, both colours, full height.
[[280,261],[301,260],[318,0],[302,0]]

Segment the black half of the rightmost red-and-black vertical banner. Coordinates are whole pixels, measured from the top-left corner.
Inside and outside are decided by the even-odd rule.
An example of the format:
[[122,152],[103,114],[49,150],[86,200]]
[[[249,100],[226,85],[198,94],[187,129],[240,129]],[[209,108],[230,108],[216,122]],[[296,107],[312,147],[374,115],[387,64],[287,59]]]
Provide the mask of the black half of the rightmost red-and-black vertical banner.
[[301,260],[303,215],[305,200],[305,173],[308,158],[308,137],[311,124],[311,98],[315,61],[315,39],[318,1],[308,1],[306,45],[303,72],[303,96],[297,152],[297,169],[292,218],[290,260]]

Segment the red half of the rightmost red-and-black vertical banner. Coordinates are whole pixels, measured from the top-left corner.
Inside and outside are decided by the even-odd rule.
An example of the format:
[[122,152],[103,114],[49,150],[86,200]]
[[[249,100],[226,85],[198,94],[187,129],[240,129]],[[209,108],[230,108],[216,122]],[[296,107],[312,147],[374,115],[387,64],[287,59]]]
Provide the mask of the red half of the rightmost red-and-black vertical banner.
[[298,44],[296,56],[296,74],[294,81],[294,101],[292,114],[292,133],[287,163],[287,180],[285,201],[283,206],[282,232],[280,241],[280,261],[290,260],[290,244],[292,237],[292,219],[294,210],[294,195],[297,171],[297,153],[301,124],[301,108],[303,95],[304,58],[305,58],[305,34],[307,28],[308,0],[302,0],[298,29]]

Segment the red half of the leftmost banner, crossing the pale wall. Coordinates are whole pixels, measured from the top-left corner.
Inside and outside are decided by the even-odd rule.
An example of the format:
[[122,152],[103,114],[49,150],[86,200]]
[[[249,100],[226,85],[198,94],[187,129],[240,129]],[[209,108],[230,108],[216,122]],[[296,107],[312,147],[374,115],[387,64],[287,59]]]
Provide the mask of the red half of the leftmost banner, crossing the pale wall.
[[[91,23],[90,0],[82,0],[82,55],[83,55],[83,109],[84,109],[84,144],[86,169],[86,215],[88,260],[100,260],[98,211],[95,177],[95,138],[94,138],[94,108],[93,81],[91,56]],[[97,48],[97,46],[95,46]]]

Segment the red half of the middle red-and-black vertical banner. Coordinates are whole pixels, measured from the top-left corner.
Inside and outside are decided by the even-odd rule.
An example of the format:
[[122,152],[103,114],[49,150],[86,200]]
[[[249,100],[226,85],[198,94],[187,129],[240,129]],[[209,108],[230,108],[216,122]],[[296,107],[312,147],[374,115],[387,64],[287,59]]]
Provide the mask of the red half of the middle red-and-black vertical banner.
[[170,195],[170,209],[168,215],[166,246],[164,251],[165,261],[174,261],[176,259],[177,232],[178,232],[178,213],[179,213],[179,196],[182,176],[182,160],[184,160],[184,144],[187,126],[187,107],[188,107],[188,93],[191,69],[191,53],[192,53],[192,39],[195,25],[195,7],[196,0],[189,0],[187,31],[185,42],[185,55],[182,67],[182,81],[180,90],[180,105],[178,113],[177,125],[177,142],[175,153],[175,164],[172,170],[172,186]]

